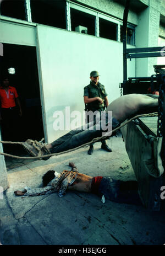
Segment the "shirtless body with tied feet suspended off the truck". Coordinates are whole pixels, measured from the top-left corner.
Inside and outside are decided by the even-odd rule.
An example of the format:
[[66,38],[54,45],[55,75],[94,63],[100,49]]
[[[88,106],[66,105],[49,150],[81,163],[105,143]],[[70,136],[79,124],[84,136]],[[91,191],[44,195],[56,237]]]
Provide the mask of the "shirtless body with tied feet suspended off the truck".
[[[153,113],[158,108],[158,95],[153,94],[127,94],[113,100],[104,111],[106,118],[108,111],[112,111],[111,122],[106,122],[106,125],[111,123],[112,130],[118,127],[121,122],[140,113]],[[107,119],[106,119],[107,120]],[[100,129],[98,129],[100,127]],[[43,156],[45,154],[59,153],[76,148],[84,143],[92,141],[94,138],[101,137],[103,131],[100,126],[100,116],[96,122],[90,122],[85,127],[71,130],[62,137],[49,144],[44,144],[37,141],[27,140],[23,143],[23,147],[31,156]],[[105,132],[106,134],[106,132]],[[47,159],[47,158],[43,158]]]

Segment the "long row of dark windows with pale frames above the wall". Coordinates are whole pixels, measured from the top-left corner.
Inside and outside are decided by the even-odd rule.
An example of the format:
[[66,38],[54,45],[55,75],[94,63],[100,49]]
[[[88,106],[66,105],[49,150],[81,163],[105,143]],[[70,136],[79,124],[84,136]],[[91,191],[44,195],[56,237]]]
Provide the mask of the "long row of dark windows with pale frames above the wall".
[[[25,0],[2,0],[1,2],[1,14],[4,16],[22,20],[26,20],[27,16],[29,22],[123,42],[122,22],[80,4],[65,0],[30,0],[27,15],[25,9]],[[127,44],[135,45],[135,28],[129,24]]]

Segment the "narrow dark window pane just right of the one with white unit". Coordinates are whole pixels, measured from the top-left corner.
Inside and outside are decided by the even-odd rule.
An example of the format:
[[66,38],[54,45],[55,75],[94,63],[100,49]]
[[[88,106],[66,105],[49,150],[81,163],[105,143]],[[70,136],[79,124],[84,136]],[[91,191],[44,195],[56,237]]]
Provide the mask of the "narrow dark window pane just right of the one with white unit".
[[100,37],[117,41],[117,24],[99,18]]

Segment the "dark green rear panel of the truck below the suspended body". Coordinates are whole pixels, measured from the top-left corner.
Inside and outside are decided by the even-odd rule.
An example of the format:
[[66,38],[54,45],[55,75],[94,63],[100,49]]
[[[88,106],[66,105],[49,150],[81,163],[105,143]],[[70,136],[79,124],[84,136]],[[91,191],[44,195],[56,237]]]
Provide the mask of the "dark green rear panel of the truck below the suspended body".
[[157,117],[138,118],[121,128],[121,131],[138,180],[142,203],[147,209],[159,211],[163,201],[160,189],[165,184],[164,173],[153,174],[145,164],[148,159],[151,162],[156,160],[153,148],[160,143],[160,138],[157,137]]

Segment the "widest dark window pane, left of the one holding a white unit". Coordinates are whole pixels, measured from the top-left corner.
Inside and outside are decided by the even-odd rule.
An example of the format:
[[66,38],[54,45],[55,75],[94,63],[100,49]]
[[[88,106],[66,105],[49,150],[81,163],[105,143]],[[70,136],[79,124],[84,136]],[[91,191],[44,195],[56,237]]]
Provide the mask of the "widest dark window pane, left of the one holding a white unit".
[[32,22],[66,29],[65,6],[63,0],[30,0]]

